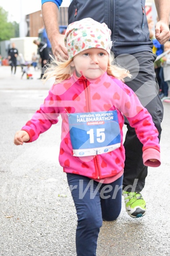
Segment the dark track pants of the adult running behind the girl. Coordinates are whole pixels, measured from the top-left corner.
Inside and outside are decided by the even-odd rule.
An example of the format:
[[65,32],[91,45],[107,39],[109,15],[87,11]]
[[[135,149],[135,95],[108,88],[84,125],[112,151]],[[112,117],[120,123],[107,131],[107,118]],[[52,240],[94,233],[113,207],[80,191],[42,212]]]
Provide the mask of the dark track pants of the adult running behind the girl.
[[[148,51],[133,54],[119,55],[116,62],[133,75],[131,81],[125,80],[125,83],[137,94],[142,105],[148,109],[152,115],[152,120],[159,131],[159,139],[161,134],[161,121],[163,119],[163,104],[158,95],[159,85],[156,81],[153,62],[156,55]],[[123,187],[133,185],[137,179],[137,185],[134,186],[135,191],[142,191],[145,186],[145,178],[148,168],[143,165],[142,160],[142,143],[138,140],[135,129],[129,126],[127,119],[127,134],[124,142],[125,148],[125,167]],[[131,189],[127,189],[131,191]]]

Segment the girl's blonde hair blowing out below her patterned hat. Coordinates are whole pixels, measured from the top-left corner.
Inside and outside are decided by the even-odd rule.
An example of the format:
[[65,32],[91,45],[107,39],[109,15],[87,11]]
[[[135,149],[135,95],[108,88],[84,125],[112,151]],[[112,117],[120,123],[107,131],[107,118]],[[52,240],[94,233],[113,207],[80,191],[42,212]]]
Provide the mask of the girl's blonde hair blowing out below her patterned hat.
[[[60,59],[53,58],[51,55],[51,61],[46,65],[46,71],[43,75],[43,82],[45,83],[47,79],[51,77],[55,77],[55,84],[62,83],[65,80],[70,79],[73,74],[75,67],[71,66],[71,62],[73,58],[70,60],[65,60],[60,57]],[[131,74],[127,69],[121,68],[119,65],[113,65],[114,56],[110,53],[108,66],[107,66],[107,74],[109,76],[113,76],[122,82],[124,82],[125,77],[131,78]]]

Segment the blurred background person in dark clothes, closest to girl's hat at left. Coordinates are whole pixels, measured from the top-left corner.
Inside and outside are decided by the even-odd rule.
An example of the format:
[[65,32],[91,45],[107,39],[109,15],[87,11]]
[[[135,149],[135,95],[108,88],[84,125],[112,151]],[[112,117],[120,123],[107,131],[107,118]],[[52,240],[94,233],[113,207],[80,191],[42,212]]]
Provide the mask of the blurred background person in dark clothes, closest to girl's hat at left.
[[39,79],[43,78],[43,74],[45,72],[45,65],[47,64],[49,60],[49,51],[47,47],[47,43],[45,42],[40,42],[39,40],[34,40],[33,43],[35,43],[38,46],[38,53],[41,58],[41,76]]

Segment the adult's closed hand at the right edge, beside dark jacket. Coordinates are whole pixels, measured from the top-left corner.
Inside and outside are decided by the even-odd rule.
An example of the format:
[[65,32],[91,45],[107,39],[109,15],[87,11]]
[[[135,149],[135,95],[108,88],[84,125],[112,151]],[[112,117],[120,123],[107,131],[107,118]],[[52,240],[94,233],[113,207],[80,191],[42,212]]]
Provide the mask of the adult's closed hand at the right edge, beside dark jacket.
[[170,39],[170,29],[165,22],[160,20],[156,23],[155,37],[160,44],[164,44]]

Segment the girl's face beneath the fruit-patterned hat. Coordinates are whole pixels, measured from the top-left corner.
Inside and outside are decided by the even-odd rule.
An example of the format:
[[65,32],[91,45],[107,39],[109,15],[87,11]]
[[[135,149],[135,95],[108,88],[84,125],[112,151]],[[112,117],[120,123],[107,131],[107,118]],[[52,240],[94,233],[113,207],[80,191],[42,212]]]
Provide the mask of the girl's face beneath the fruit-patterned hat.
[[89,48],[77,54],[71,66],[75,67],[78,77],[96,79],[106,72],[109,54],[101,48]]

